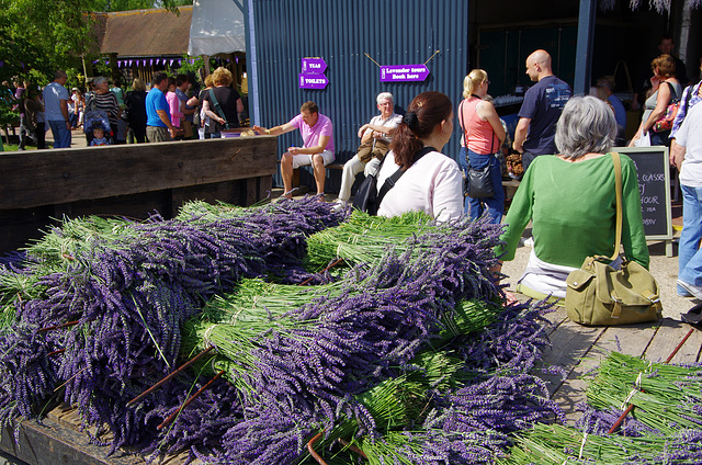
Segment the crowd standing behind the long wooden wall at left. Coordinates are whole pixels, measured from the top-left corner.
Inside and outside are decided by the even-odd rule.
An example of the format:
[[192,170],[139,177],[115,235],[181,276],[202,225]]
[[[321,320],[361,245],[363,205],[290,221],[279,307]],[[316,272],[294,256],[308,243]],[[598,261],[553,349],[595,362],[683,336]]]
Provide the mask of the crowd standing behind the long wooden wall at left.
[[20,114],[19,149],[25,150],[30,140],[37,149],[46,148],[48,129],[54,148],[69,148],[71,132],[81,128],[89,146],[220,137],[222,131],[239,127],[244,113],[233,80],[229,70],[217,68],[205,78],[205,89],[196,93],[194,79],[186,75],[172,78],[157,72],[150,89],[136,78],[125,93],[117,80],[98,76],[90,79],[83,93],[77,87],[68,91],[68,76],[63,70],[56,71],[43,90],[18,79],[10,98]]

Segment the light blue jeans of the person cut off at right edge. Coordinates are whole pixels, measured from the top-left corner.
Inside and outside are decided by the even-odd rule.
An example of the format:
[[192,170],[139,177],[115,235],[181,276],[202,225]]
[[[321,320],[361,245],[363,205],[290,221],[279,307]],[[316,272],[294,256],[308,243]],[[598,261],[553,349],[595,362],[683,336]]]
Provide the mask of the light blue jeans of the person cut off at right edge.
[[[682,232],[678,247],[678,279],[688,284],[702,286],[702,188],[681,185]],[[688,292],[678,286],[678,294]]]

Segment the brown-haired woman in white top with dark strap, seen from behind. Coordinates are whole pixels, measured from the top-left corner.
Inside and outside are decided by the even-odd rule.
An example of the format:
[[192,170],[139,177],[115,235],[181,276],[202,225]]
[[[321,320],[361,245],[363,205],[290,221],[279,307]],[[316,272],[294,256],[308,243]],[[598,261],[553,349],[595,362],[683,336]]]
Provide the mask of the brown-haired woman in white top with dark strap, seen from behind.
[[[463,213],[463,177],[458,165],[441,154],[453,133],[451,100],[437,91],[422,92],[407,107],[397,126],[377,177],[378,191],[398,169],[405,173],[390,189],[378,208],[378,216],[396,216],[422,211],[445,222]],[[424,147],[432,150],[419,159]]]

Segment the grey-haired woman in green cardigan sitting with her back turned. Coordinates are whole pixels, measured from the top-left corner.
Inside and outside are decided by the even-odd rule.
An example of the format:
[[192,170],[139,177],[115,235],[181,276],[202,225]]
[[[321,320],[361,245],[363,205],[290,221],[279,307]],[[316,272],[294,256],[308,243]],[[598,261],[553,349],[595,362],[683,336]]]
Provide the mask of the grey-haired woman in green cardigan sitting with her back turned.
[[[565,298],[566,277],[589,256],[612,256],[616,201],[614,166],[608,151],[616,121],[603,101],[575,97],[556,126],[559,155],[540,156],[524,173],[505,218],[501,260],[514,259],[524,228],[532,222],[534,248],[517,292],[534,298]],[[648,268],[636,167],[621,156],[622,245],[629,260]]]

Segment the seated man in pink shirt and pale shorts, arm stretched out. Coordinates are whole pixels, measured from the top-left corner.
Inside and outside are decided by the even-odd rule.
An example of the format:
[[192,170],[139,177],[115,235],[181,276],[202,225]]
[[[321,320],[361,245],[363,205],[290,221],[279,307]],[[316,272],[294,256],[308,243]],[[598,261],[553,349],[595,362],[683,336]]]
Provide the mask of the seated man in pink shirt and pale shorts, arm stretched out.
[[279,136],[299,129],[303,136],[302,147],[288,147],[281,157],[281,172],[283,174],[283,186],[287,199],[293,197],[293,170],[295,168],[312,165],[315,171],[315,183],[317,194],[325,193],[325,167],[335,160],[333,150],[333,126],[329,117],[319,113],[315,102],[305,102],[299,107],[299,114],[280,126],[267,129],[261,126],[253,126],[259,134]]

